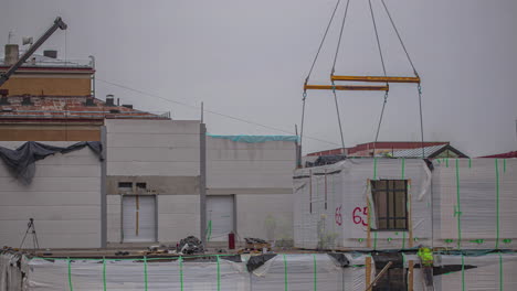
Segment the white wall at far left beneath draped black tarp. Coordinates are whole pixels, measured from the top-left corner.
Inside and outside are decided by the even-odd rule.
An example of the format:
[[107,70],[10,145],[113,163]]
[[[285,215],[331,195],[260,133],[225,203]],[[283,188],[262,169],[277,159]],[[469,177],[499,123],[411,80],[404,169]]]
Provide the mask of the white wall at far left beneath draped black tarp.
[[[22,143],[0,146],[15,149]],[[0,161],[0,246],[19,247],[32,217],[42,248],[101,247],[101,161],[88,148],[38,161],[29,185]],[[31,237],[24,246],[32,248]]]

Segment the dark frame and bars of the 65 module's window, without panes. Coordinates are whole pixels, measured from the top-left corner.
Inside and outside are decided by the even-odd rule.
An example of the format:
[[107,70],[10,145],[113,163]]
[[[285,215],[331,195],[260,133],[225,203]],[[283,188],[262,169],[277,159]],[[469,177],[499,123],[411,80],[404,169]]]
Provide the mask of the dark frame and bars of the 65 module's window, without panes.
[[[380,182],[386,182],[386,186],[380,187]],[[404,182],[404,187],[397,187],[395,183],[397,182]],[[373,205],[374,205],[374,211],[376,211],[376,217],[377,217],[377,228],[371,229],[373,231],[409,231],[409,211],[408,211],[408,200],[409,200],[409,193],[408,193],[408,185],[409,185],[409,180],[407,179],[379,179],[379,180],[371,180],[371,196],[373,200]],[[379,184],[377,184],[379,183]],[[393,186],[390,186],[390,184],[393,184]],[[397,193],[403,192],[404,197],[403,201],[403,216],[397,216]],[[379,215],[379,205],[376,205],[376,202],[378,201],[378,195],[381,193],[386,193],[386,215],[380,216]],[[390,201],[390,196],[392,197]],[[390,212],[390,202],[392,204],[392,212]],[[386,227],[380,228],[380,220],[384,219],[386,220]],[[400,228],[397,227],[397,223],[399,220],[404,222],[404,227]],[[390,222],[392,222],[392,227]]]

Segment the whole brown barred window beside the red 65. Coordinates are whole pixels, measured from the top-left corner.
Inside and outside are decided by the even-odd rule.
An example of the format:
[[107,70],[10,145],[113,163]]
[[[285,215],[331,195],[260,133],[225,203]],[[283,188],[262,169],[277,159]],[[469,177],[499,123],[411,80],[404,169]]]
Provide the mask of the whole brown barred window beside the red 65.
[[377,230],[407,230],[408,180],[371,181]]

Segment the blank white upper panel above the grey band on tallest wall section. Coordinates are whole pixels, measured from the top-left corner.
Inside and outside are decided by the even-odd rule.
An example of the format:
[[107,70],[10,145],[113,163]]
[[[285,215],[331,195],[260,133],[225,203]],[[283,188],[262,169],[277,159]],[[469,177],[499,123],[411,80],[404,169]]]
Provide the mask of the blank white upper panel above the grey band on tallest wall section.
[[108,175],[199,175],[199,121],[107,120]]

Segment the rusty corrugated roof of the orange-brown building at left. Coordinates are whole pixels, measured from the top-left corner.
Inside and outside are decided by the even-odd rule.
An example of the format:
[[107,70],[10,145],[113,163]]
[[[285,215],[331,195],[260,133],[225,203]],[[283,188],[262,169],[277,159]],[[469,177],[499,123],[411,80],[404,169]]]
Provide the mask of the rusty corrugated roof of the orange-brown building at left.
[[[30,104],[24,99],[30,99]],[[170,119],[168,112],[151,114],[124,106],[106,106],[103,100],[93,98],[93,105],[86,106],[89,97],[7,97],[9,104],[0,104],[1,120],[28,119],[82,119],[99,120],[105,118],[122,119]],[[27,100],[27,99],[25,99]]]

